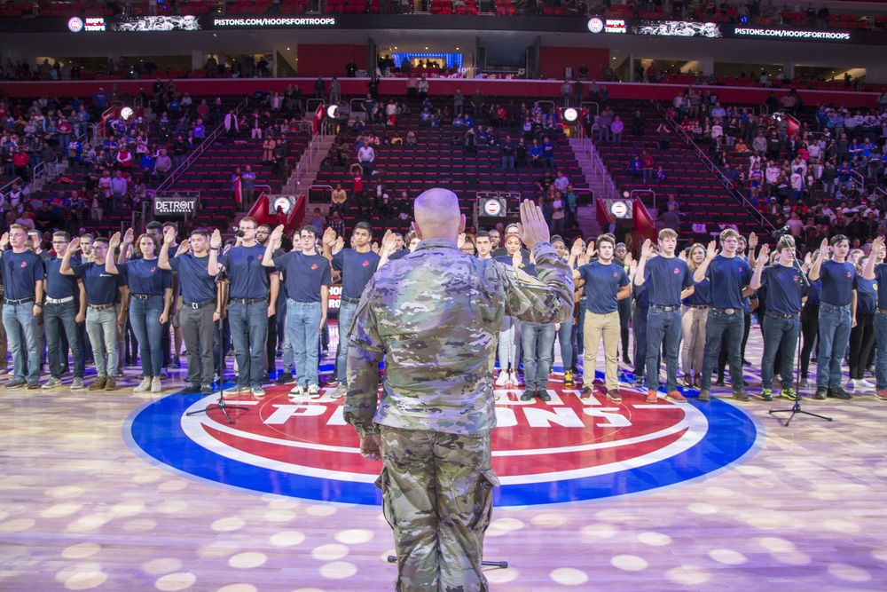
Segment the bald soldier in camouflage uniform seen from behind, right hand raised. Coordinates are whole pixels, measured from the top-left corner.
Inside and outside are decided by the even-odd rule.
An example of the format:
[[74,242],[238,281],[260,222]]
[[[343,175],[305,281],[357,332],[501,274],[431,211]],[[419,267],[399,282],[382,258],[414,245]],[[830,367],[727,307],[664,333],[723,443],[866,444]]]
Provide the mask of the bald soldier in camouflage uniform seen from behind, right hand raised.
[[[569,267],[548,242],[542,211],[521,206],[522,240],[538,278],[461,253],[455,193],[415,201],[419,247],[366,286],[349,334],[345,419],[365,458],[383,459],[377,481],[395,533],[396,590],[480,592],[490,523],[493,358],[506,315],[533,323],[573,311]],[[386,361],[379,401],[378,365]]]

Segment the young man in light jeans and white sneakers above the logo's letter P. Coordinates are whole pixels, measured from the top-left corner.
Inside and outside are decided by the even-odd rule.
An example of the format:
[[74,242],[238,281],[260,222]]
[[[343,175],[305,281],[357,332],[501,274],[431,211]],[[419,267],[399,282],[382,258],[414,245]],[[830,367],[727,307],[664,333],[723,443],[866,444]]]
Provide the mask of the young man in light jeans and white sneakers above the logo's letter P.
[[[293,348],[296,384],[290,396],[308,394],[318,397],[318,353],[320,331],[326,324],[329,293],[332,281],[330,262],[317,249],[317,227],[302,226],[299,242],[289,253],[274,257],[279,249],[284,227],[279,225],[271,233],[265,247],[262,264],[283,273],[284,290],[287,293],[287,336]],[[284,368],[284,372],[288,372]]]

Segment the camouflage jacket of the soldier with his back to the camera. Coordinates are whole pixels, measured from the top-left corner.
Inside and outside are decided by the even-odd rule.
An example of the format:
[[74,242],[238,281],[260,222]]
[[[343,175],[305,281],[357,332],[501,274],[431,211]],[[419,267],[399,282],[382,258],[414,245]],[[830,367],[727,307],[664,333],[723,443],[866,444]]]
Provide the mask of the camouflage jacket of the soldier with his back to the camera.
[[[573,278],[550,243],[533,248],[538,276],[422,241],[366,285],[349,331],[345,421],[480,437],[496,427],[492,369],[506,315],[556,323],[573,312]],[[379,390],[379,362],[385,383]]]

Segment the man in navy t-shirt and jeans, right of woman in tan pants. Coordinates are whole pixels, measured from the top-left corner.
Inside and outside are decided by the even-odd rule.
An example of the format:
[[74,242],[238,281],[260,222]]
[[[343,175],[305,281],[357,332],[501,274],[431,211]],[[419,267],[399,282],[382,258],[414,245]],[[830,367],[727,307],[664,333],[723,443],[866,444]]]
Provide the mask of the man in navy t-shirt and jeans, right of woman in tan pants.
[[711,370],[715,367],[721,338],[726,334],[727,356],[730,361],[730,380],[734,399],[749,400],[742,379],[742,333],[745,329],[745,312],[742,300],[752,292],[751,266],[742,257],[736,257],[739,249],[739,233],[727,228],[720,233],[722,252],[718,254],[715,241],[709,243],[703,263],[696,268],[693,280],[706,278],[710,284],[711,308],[705,325],[705,353],[703,377],[699,388],[699,400],[709,400]]

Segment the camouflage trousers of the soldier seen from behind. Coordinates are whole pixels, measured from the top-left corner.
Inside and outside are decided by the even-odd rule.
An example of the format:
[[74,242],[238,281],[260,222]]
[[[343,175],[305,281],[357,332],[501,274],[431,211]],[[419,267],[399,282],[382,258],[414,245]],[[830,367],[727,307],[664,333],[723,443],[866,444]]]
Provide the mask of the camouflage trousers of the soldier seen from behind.
[[490,525],[490,436],[381,427],[385,519],[394,530],[397,592],[485,592]]

